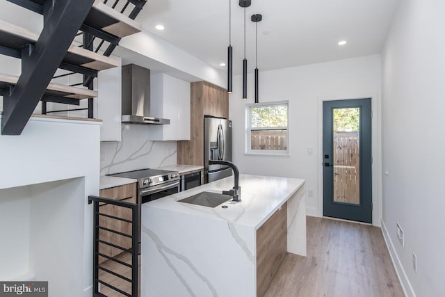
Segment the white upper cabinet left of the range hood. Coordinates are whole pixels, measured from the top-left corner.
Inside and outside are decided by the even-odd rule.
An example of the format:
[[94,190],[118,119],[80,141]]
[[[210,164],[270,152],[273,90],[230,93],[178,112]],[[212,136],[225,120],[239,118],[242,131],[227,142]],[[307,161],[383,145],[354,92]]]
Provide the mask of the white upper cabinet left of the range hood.
[[122,63],[118,59],[118,67],[97,74],[97,118],[102,120],[100,141],[121,141]]

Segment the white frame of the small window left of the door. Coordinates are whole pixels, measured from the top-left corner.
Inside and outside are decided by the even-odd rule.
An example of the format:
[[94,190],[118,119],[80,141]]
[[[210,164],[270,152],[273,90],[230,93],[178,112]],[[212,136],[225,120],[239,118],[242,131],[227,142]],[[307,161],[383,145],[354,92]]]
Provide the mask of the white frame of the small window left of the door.
[[[287,110],[287,126],[286,127],[252,127],[252,109],[255,107],[266,106],[286,106]],[[246,104],[246,129],[245,129],[245,154],[246,155],[264,155],[264,156],[289,156],[289,101],[264,102],[259,104]],[[277,130],[282,129],[287,132],[287,149],[286,150],[252,150],[252,131],[255,130]]]

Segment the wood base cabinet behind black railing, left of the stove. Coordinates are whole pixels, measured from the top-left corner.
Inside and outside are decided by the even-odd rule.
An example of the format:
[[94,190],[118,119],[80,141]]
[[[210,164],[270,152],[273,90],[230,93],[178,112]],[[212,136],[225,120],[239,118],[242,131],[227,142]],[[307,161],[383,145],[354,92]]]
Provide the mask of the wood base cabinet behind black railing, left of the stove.
[[[115,186],[113,188],[105,188],[99,191],[99,195],[103,198],[136,203],[136,183]],[[102,214],[108,214],[110,216],[131,220],[131,209],[118,207],[116,205],[102,204],[99,206],[99,212]],[[107,229],[131,235],[131,223],[127,223],[122,220],[99,216],[99,225]],[[113,232],[99,230],[99,239],[113,243],[116,246],[122,246],[122,248],[131,248],[131,239],[129,237],[115,234]],[[99,243],[99,252],[109,257],[115,257],[115,255],[120,254],[122,250]],[[106,259],[101,257],[101,259],[99,259],[99,263],[103,262],[104,260]]]

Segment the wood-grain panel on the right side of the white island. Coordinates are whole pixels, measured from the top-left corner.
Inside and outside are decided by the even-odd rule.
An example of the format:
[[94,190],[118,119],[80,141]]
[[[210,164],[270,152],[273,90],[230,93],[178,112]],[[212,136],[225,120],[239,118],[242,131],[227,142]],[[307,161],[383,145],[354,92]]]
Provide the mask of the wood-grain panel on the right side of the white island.
[[257,296],[264,296],[287,254],[287,202],[257,230]]

